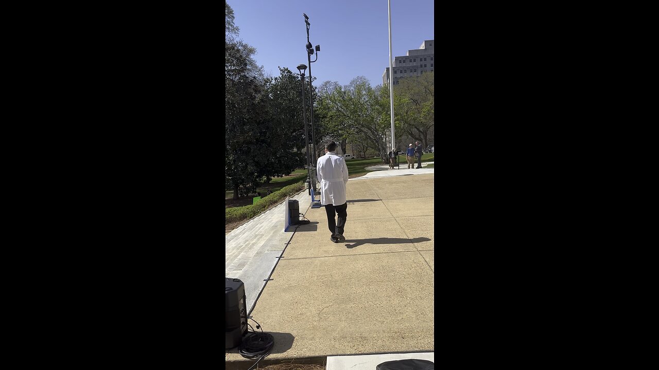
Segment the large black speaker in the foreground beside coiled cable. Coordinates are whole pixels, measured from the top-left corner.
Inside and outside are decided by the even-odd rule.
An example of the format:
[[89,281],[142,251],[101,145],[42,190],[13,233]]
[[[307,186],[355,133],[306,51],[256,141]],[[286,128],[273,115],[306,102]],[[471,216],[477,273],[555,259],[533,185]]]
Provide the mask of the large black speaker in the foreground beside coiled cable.
[[245,286],[239,278],[226,278],[224,288],[225,303],[225,349],[241,344],[247,331],[247,305]]

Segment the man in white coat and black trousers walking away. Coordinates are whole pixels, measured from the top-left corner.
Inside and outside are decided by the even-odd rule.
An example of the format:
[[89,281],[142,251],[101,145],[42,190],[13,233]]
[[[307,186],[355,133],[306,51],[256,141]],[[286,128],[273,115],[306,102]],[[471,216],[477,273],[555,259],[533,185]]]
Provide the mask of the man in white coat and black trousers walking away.
[[[320,204],[325,206],[328,214],[328,228],[331,232],[329,240],[338,243],[345,240],[343,230],[348,213],[345,188],[348,183],[348,167],[345,160],[336,155],[336,143],[329,142],[325,145],[325,155],[318,158],[316,163],[316,175],[320,184]],[[334,219],[336,213],[339,222]]]

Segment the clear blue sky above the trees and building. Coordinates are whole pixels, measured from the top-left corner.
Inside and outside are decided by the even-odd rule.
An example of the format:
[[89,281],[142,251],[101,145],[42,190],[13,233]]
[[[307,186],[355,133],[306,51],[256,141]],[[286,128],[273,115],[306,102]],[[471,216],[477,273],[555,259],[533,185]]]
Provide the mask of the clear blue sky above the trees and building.
[[[326,80],[347,85],[357,76],[382,84],[389,66],[387,0],[228,0],[235,13],[239,38],[256,47],[256,63],[264,72],[279,75],[277,66],[297,72],[306,59],[306,13],[309,41],[320,44],[312,63],[314,86]],[[434,40],[434,1],[391,0],[393,57]],[[311,60],[316,59],[316,54]],[[306,74],[308,76],[308,69]]]

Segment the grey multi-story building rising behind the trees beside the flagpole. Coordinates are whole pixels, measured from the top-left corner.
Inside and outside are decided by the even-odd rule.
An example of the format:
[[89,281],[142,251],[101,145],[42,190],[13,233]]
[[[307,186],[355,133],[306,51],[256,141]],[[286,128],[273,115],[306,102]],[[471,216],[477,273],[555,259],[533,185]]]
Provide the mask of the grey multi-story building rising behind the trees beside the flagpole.
[[[425,40],[418,49],[407,51],[405,57],[395,57],[393,60],[393,84],[398,84],[400,78],[420,76],[424,72],[435,70],[435,40]],[[382,84],[389,83],[389,67],[382,74]]]

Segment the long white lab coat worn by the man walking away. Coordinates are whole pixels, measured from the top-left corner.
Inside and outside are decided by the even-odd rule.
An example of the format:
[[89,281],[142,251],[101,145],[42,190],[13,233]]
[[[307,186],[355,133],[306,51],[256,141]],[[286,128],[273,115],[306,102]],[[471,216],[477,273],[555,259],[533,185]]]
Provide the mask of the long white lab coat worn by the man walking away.
[[320,184],[320,204],[342,205],[346,202],[348,167],[343,158],[331,152],[318,158],[316,175]]

